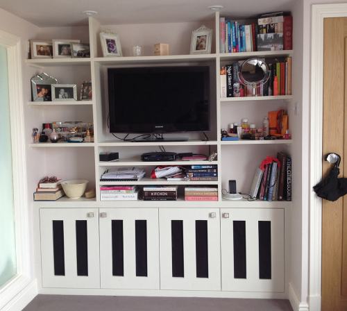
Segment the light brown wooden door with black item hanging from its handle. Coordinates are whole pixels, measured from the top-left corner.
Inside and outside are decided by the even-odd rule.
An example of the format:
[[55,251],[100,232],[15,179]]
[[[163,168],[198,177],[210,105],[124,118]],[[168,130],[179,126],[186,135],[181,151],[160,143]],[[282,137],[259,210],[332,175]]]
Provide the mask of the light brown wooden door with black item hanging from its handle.
[[[324,20],[323,155],[341,155],[347,177],[347,18]],[[330,169],[323,162],[323,176]],[[323,200],[322,311],[347,310],[347,197]]]

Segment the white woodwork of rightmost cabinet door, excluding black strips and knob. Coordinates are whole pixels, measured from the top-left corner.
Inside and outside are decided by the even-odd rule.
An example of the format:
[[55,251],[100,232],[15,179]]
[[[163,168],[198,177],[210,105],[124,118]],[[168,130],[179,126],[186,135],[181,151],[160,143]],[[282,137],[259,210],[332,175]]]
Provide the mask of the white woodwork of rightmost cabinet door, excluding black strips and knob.
[[[228,218],[223,214],[228,213]],[[232,221],[246,221],[246,278],[234,278]],[[271,221],[271,279],[259,278],[258,221]],[[284,292],[285,219],[280,209],[221,208],[221,284],[223,291]]]

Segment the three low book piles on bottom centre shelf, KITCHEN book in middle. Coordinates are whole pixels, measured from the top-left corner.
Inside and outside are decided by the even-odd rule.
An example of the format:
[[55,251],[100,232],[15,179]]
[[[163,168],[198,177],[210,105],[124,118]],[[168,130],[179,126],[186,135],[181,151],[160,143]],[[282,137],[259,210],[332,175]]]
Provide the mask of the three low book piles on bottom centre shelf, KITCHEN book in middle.
[[[176,201],[178,186],[144,186],[142,192],[135,185],[100,187],[101,201]],[[218,201],[217,187],[185,187],[185,201]]]

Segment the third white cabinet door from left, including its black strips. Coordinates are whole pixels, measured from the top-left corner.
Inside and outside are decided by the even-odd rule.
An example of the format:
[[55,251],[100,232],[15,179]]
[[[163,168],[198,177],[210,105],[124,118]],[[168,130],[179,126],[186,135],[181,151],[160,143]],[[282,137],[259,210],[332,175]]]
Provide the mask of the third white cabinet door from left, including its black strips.
[[219,209],[159,211],[160,288],[220,290]]

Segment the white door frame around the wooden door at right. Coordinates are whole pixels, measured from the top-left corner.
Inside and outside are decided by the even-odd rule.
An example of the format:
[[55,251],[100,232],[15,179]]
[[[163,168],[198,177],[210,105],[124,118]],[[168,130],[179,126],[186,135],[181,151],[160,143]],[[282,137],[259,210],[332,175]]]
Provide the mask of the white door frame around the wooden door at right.
[[[322,200],[312,187],[322,178],[323,26],[328,17],[347,17],[347,3],[312,5],[310,92],[310,310],[321,310]],[[314,47],[314,49],[312,49]]]

